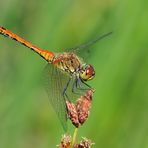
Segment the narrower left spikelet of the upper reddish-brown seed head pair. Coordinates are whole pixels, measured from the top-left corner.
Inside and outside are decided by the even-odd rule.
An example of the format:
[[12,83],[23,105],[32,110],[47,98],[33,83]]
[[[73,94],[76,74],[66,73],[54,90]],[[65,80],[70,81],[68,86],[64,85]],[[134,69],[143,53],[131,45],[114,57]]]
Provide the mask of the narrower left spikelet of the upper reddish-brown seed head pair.
[[67,106],[67,114],[68,114],[68,117],[71,120],[72,124],[75,127],[79,127],[80,123],[78,120],[78,113],[77,113],[75,104],[66,101],[66,106]]

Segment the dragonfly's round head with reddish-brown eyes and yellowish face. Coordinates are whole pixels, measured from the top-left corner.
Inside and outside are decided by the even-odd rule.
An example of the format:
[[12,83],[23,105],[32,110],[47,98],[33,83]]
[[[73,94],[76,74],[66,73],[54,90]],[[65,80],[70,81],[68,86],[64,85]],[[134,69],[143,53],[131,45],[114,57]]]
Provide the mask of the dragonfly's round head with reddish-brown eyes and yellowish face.
[[80,71],[80,78],[84,81],[92,80],[95,76],[95,70],[92,65],[84,65]]

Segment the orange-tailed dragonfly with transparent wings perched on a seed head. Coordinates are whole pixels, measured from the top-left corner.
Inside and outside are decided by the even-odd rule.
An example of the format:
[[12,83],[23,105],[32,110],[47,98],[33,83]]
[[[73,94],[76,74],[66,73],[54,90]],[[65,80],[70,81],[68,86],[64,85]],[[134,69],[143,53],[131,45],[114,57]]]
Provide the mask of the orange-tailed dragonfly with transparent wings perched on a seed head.
[[77,51],[93,45],[104,37],[112,34],[112,32],[106,33],[95,40],[71,48],[68,52],[63,53],[53,53],[43,50],[4,27],[0,27],[0,34],[28,47],[47,61],[47,66],[44,70],[44,85],[50,103],[66,131],[68,118],[66,100],[71,101],[71,98],[75,99],[76,95],[80,96],[83,92],[90,89],[91,86],[87,84],[87,81],[95,77],[93,66],[86,64],[77,55]]

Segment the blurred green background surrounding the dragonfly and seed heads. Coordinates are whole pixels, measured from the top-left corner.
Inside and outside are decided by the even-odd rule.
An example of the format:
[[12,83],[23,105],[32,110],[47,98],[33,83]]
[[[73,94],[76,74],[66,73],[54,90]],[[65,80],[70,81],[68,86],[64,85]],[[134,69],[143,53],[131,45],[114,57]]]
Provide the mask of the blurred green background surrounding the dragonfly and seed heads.
[[[146,0],[0,1],[0,25],[43,49],[60,52],[114,32],[84,59],[96,69],[89,83],[96,92],[78,138],[90,138],[95,148],[148,147],[147,20]],[[41,84],[45,65],[0,36],[0,148],[59,144],[64,131]]]

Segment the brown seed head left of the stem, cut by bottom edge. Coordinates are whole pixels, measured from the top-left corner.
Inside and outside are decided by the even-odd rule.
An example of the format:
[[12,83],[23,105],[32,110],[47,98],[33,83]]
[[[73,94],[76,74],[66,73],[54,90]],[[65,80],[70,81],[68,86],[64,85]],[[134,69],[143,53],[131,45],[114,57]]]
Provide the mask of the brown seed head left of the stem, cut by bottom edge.
[[71,136],[63,135],[59,148],[70,148],[70,144],[71,144]]

